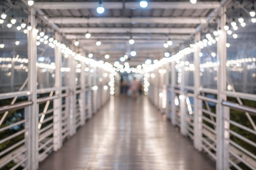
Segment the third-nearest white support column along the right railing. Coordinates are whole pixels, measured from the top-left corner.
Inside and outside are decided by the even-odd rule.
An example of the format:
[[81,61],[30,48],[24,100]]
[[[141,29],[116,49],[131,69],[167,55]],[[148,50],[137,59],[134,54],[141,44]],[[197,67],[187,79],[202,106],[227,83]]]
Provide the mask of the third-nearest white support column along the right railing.
[[[185,57],[182,58],[182,61],[185,60]],[[187,135],[187,106],[186,106],[186,98],[185,98],[185,71],[184,71],[184,64],[182,65],[182,76],[181,76],[181,84],[180,84],[180,132],[182,135]]]

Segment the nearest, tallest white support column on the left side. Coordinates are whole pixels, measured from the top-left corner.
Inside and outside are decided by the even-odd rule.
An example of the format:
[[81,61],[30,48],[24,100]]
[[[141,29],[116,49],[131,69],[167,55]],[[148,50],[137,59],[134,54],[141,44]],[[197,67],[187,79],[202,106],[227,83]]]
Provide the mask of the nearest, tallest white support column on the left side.
[[[37,104],[36,104],[36,84],[37,84],[37,75],[36,75],[36,56],[37,56],[37,46],[36,46],[36,19],[35,19],[35,9],[30,8],[29,22],[31,23],[32,30],[27,33],[28,40],[28,59],[29,59],[29,81],[28,89],[31,93],[29,100],[33,101],[33,104],[29,106],[26,110],[29,114],[29,133],[25,133],[25,138],[28,138],[29,141],[25,143],[25,146],[28,147],[26,155],[28,155],[28,167],[29,170],[38,169],[38,117],[37,113]],[[28,135],[28,136],[27,136]]]

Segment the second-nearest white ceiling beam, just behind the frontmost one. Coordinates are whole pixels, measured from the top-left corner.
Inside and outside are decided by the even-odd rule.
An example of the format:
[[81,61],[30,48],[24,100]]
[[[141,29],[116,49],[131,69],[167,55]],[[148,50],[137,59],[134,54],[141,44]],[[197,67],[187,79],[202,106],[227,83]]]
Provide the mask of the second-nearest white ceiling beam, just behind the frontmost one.
[[203,17],[53,17],[49,18],[50,23],[55,24],[206,24],[207,20]]

